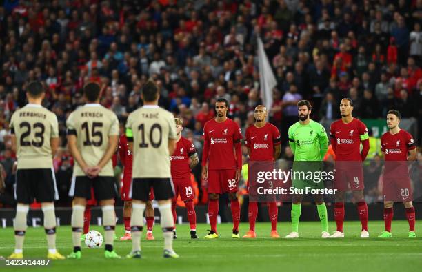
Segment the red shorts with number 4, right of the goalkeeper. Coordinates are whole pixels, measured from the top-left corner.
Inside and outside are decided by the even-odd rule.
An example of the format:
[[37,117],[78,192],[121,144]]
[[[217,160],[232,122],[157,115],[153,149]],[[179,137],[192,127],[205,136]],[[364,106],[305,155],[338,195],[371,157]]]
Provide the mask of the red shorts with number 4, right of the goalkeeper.
[[350,185],[350,190],[352,191],[361,191],[365,188],[363,185],[363,168],[361,162],[343,165],[336,163],[334,188],[339,191],[348,191],[348,185]]

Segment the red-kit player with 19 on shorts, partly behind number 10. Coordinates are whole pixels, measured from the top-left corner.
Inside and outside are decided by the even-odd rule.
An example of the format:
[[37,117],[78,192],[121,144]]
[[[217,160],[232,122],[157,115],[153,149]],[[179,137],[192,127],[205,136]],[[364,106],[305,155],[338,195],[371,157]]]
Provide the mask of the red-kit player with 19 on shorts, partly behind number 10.
[[175,118],[177,143],[176,150],[170,156],[172,179],[174,185],[174,198],[172,200],[172,213],[174,218],[174,239],[176,239],[176,202],[180,194],[181,200],[185,202],[188,211],[188,221],[190,224],[190,238],[197,239],[197,213],[194,208],[194,191],[192,182],[190,181],[190,169],[194,168],[198,162],[197,150],[194,145],[186,138],[181,136],[183,130],[183,122],[179,118]]

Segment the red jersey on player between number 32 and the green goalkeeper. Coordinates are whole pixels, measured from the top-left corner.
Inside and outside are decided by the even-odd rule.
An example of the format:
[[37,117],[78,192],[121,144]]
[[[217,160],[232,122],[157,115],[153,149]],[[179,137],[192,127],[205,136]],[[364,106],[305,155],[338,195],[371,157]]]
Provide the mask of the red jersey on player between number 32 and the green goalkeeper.
[[254,125],[246,129],[245,146],[250,148],[251,161],[274,161],[274,146],[280,144],[280,133],[276,126],[267,123],[262,128]]

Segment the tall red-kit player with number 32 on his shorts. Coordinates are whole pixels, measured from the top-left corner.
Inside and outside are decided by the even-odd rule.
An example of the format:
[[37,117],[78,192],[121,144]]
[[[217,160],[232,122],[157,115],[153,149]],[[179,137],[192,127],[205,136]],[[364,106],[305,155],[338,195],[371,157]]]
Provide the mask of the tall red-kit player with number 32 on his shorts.
[[203,127],[204,143],[202,154],[202,178],[208,180],[208,216],[211,231],[205,239],[218,238],[217,215],[219,214],[219,195],[228,193],[232,210],[232,238],[239,236],[240,204],[237,200],[237,184],[241,177],[242,150],[241,129],[227,117],[228,101],[217,99],[217,117]]

